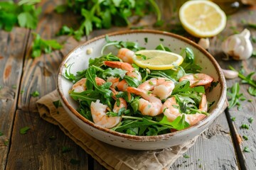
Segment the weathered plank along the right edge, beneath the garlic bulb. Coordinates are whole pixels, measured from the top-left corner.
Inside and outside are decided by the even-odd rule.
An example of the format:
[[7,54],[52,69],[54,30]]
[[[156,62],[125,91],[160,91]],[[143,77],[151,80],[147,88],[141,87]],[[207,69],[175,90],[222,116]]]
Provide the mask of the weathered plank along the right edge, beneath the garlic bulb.
[[[214,44],[214,49],[211,49],[210,52],[215,53],[215,57],[218,59],[218,62],[220,64],[220,67],[223,69],[228,69],[229,65],[234,67],[237,70],[240,70],[243,68],[245,70],[245,75],[250,74],[250,72],[256,72],[256,60],[255,57],[250,57],[248,60],[242,60],[242,61],[235,61],[235,60],[221,60],[221,58],[224,56],[221,52],[220,45],[223,39],[227,38],[228,35],[235,33],[236,30],[238,32],[241,32],[244,28],[247,28],[251,32],[251,37],[256,37],[256,30],[254,28],[248,28],[246,23],[255,23],[255,17],[256,17],[256,10],[255,8],[243,8],[239,11],[239,13],[234,13],[230,18],[228,19],[228,24],[221,33],[218,38],[215,38],[212,40],[212,43]],[[252,43],[254,49],[256,49],[256,43]],[[254,78],[255,79],[255,76]],[[233,129],[235,134],[233,135],[234,142],[238,143],[238,159],[240,160],[241,168],[247,168],[247,169],[256,169],[256,135],[255,135],[255,122],[250,123],[248,121],[249,118],[256,119],[256,100],[255,96],[250,96],[248,94],[248,85],[242,84],[241,79],[230,79],[227,80],[228,87],[233,86],[238,82],[240,84],[240,94],[243,94],[245,96],[246,100],[241,101],[241,108],[238,110],[238,107],[230,108],[229,113],[230,118],[235,118],[235,121],[230,125],[230,128]],[[251,99],[252,102],[249,102],[247,100]],[[230,121],[232,122],[232,121]],[[242,129],[241,125],[247,124],[250,125],[249,130]],[[242,136],[246,135],[248,137],[248,140],[243,140]],[[251,149],[250,153],[244,152],[243,149],[245,147],[248,147]],[[241,155],[241,157],[240,157]]]

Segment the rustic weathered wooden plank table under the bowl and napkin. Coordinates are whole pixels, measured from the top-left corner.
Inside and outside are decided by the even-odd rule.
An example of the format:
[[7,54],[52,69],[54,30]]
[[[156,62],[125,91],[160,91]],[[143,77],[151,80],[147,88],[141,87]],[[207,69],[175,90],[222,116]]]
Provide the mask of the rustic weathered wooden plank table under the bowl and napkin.
[[[11,32],[0,30],[0,132],[3,134],[0,136],[1,169],[105,169],[57,126],[41,119],[36,101],[55,89],[58,65],[75,45],[96,35],[129,28],[95,30],[81,42],[66,36],[55,37],[61,26],[75,23],[73,16],[53,12],[54,6],[58,4],[61,1],[43,0],[39,4],[43,13],[36,30],[18,27]],[[154,20],[149,18],[145,17],[143,22],[152,28]],[[246,27],[242,20],[256,23],[255,18],[256,8],[245,6],[228,17],[228,25],[220,35],[210,38],[209,52],[224,69],[228,65],[236,69],[243,66],[245,74],[255,72],[255,57],[244,61],[224,61],[220,50],[223,38],[233,34],[234,29],[242,31]],[[255,37],[256,29],[249,29],[252,37]],[[33,32],[42,38],[54,38],[66,43],[62,50],[32,59]],[[253,46],[256,47],[256,44]],[[230,87],[235,82],[240,82],[240,79],[228,80],[227,84]],[[252,102],[242,101],[240,111],[235,107],[222,113],[188,150],[186,154],[189,158],[179,158],[171,169],[256,169],[256,101],[255,97],[247,93],[247,88],[247,84],[240,84],[240,93],[252,99]],[[40,96],[31,96],[33,91],[39,91]],[[235,121],[231,117],[235,117]],[[255,121],[250,124],[248,118],[254,118]],[[243,123],[250,124],[250,128],[240,128]],[[19,131],[25,126],[31,130],[21,135]],[[247,135],[248,140],[239,142],[242,135]],[[51,136],[55,140],[50,140]],[[63,147],[72,150],[63,153]],[[250,148],[251,152],[244,152],[244,147]],[[80,160],[80,164],[70,164],[70,159]]]

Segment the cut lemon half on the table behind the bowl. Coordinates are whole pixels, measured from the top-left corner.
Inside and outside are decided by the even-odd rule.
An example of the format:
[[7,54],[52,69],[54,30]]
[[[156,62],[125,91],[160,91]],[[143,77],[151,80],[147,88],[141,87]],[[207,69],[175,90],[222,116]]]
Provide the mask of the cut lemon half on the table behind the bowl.
[[227,22],[224,11],[212,1],[186,1],[178,16],[183,28],[198,38],[217,35]]

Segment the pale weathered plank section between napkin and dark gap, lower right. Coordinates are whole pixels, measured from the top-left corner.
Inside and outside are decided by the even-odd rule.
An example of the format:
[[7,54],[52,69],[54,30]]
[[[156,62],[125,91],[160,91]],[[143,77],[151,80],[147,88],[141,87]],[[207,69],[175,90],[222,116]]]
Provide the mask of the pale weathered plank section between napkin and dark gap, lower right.
[[225,113],[183,155],[188,158],[179,158],[171,169],[239,169]]

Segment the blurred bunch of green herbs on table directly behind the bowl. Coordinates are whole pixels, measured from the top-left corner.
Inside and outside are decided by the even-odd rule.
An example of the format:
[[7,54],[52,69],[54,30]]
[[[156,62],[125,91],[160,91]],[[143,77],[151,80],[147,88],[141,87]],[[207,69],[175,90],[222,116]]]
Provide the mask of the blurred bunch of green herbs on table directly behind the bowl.
[[78,15],[80,27],[68,28],[63,26],[58,35],[74,35],[80,40],[83,35],[89,35],[95,28],[110,28],[111,26],[128,26],[130,16],[144,16],[154,9],[157,21],[161,25],[161,12],[154,0],[123,0],[123,1],[68,1],[67,4],[57,6],[55,11],[64,13],[73,11]]

